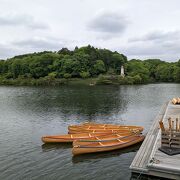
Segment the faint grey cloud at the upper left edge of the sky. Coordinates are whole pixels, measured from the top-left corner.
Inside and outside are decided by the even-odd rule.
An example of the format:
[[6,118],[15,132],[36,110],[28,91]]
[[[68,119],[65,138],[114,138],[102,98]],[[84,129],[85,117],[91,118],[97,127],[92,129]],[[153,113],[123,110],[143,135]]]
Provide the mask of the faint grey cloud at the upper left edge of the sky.
[[22,26],[32,29],[48,29],[45,23],[36,21],[33,16],[27,14],[4,14],[0,16],[1,26]]

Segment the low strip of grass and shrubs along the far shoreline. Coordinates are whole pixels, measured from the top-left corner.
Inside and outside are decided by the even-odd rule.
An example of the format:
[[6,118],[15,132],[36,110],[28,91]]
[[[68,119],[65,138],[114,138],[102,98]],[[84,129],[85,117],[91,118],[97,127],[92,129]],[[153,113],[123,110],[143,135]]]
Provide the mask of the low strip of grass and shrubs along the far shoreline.
[[[149,82],[152,82],[149,80]],[[144,84],[139,76],[126,76],[119,75],[100,75],[96,78],[52,78],[49,76],[43,78],[4,78],[0,77],[0,85],[17,85],[17,86],[60,86],[60,85],[133,85]]]

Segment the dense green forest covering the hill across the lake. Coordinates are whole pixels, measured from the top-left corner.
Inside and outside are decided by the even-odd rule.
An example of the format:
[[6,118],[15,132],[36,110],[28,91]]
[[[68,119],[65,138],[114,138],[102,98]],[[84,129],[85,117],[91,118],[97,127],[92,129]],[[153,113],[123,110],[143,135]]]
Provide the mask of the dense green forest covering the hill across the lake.
[[[121,66],[125,77],[120,76]],[[95,79],[99,84],[180,82],[180,60],[127,60],[117,51],[93,46],[62,48],[57,52],[15,56],[0,60],[0,84],[62,84],[73,79]]]

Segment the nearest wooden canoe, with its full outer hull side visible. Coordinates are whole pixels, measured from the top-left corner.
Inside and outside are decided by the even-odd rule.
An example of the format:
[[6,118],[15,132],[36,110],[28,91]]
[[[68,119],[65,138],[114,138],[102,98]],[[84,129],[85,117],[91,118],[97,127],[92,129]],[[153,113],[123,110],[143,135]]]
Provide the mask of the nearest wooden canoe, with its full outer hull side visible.
[[106,142],[94,142],[87,145],[75,145],[72,149],[73,155],[85,154],[85,153],[96,153],[104,151],[112,151],[116,149],[125,148],[141,142],[144,140],[144,136],[135,135],[124,139],[116,139]]

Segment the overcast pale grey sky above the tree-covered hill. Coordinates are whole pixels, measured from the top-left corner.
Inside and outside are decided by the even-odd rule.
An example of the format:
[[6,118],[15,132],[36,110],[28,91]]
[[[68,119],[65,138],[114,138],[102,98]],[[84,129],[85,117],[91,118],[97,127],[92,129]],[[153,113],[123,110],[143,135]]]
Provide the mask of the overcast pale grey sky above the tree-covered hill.
[[179,0],[0,0],[0,59],[91,44],[180,59]]

